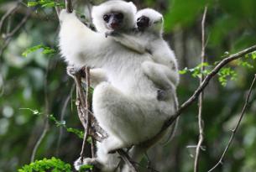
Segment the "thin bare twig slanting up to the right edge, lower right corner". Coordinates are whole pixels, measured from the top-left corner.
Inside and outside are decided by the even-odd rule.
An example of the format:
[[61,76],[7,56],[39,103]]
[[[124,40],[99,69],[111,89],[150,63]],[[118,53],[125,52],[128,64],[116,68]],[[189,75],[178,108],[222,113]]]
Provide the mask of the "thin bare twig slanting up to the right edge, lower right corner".
[[229,149],[229,147],[230,147],[230,145],[231,145],[231,143],[232,143],[232,139],[234,138],[235,134],[237,133],[238,127],[240,126],[240,123],[241,123],[242,120],[243,120],[244,112],[245,112],[245,110],[246,110],[247,107],[248,107],[248,102],[249,102],[251,93],[252,93],[252,91],[253,91],[253,86],[254,86],[255,81],[256,81],[256,74],[254,74],[254,79],[253,79],[253,82],[252,82],[252,84],[251,84],[251,86],[250,86],[250,88],[249,88],[248,95],[247,95],[247,97],[246,97],[246,100],[245,100],[245,103],[244,103],[244,106],[243,106],[243,110],[242,110],[242,112],[241,112],[241,114],[240,114],[238,123],[237,123],[236,127],[232,129],[232,135],[231,135],[231,137],[229,138],[229,141],[228,141],[228,143],[227,143],[227,147],[225,148],[225,150],[224,150],[224,152],[223,152],[221,158],[220,158],[219,161],[217,162],[217,164],[215,164],[215,165],[212,167],[212,169],[210,169],[208,172],[213,171],[214,169],[217,168],[218,165],[222,164],[223,159],[224,159],[225,155],[227,154],[227,150]]

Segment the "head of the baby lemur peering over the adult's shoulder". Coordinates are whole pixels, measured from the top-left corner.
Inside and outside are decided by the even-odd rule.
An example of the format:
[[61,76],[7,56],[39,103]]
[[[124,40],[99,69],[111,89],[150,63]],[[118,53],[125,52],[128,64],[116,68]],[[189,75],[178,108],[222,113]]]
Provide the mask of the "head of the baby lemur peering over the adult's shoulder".
[[139,31],[148,31],[155,34],[163,33],[164,18],[163,15],[154,9],[145,8],[139,10],[135,16],[137,28]]

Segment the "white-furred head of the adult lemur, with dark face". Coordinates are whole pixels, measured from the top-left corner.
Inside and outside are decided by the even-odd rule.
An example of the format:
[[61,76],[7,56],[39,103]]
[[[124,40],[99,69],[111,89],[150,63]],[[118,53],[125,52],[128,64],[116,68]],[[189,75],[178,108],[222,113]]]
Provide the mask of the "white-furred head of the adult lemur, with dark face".
[[92,8],[91,17],[98,32],[123,31],[136,25],[136,6],[132,2],[112,0]]

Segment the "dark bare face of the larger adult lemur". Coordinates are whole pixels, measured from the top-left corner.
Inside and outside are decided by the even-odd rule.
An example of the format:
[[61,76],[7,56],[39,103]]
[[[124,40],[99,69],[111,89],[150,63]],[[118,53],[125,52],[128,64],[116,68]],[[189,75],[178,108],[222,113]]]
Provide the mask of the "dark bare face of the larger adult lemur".
[[111,12],[103,15],[103,20],[105,21],[107,28],[112,30],[122,28],[123,18],[123,13],[120,12]]

